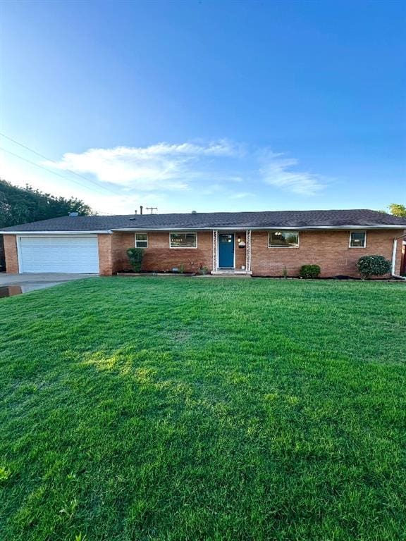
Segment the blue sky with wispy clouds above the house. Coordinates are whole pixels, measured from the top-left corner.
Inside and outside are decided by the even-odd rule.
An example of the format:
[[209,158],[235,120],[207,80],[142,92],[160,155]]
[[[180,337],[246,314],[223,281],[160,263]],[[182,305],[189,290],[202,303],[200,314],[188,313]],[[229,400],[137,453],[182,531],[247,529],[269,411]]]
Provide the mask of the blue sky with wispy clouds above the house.
[[1,137],[1,178],[101,213],[406,203],[404,2],[0,12],[0,131],[47,158]]

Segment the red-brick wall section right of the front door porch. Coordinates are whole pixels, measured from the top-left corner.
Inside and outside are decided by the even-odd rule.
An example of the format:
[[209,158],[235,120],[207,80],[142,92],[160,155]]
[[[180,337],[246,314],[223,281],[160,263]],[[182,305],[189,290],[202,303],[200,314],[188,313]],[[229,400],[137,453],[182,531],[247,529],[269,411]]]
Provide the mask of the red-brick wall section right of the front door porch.
[[[299,248],[268,248],[268,232],[252,232],[252,274],[282,276],[299,275],[302,265],[316,264],[321,276],[357,276],[357,260],[364,255],[378,254],[392,260],[393,239],[402,230],[367,231],[366,248],[349,248],[350,231],[301,231]],[[400,271],[402,244],[398,242],[396,273]]]

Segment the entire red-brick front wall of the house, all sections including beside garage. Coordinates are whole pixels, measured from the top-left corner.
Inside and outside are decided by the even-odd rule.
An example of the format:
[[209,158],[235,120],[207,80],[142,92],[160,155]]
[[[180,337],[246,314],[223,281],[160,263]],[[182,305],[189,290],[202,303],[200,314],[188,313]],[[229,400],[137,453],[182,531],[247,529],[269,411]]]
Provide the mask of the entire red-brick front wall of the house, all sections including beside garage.
[[[362,255],[379,254],[392,259],[393,239],[402,230],[368,231],[367,248],[349,248],[349,231],[302,231],[299,248],[268,248],[268,232],[252,232],[252,273],[257,276],[281,276],[286,266],[289,276],[297,276],[300,266],[316,263],[321,266],[321,276],[357,276],[355,264]],[[235,234],[235,266],[245,265],[245,249],[238,248]],[[245,233],[240,237],[245,240]],[[126,250],[133,247],[133,232],[115,232],[98,235],[99,267],[101,275],[111,275],[130,268]],[[197,249],[169,248],[168,232],[149,232],[148,248],[145,249],[143,270],[171,270],[183,264],[186,272],[195,272],[199,266],[212,266],[212,233],[197,234]],[[4,235],[6,270],[18,273],[16,235]],[[395,273],[400,273],[402,240],[398,240]]]

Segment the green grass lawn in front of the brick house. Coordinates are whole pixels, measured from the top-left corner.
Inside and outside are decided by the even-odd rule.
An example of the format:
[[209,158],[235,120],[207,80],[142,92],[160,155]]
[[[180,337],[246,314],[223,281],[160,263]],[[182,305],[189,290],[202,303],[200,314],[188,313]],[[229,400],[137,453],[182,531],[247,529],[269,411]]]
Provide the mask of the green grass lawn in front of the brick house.
[[405,540],[406,287],[94,278],[0,302],[0,538]]

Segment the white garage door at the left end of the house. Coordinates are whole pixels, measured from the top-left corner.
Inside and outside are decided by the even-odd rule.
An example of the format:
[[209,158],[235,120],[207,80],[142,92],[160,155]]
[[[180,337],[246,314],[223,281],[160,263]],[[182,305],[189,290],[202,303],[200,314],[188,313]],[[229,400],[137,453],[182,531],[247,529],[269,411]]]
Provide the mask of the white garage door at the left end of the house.
[[20,273],[99,273],[97,237],[20,237]]

